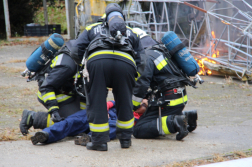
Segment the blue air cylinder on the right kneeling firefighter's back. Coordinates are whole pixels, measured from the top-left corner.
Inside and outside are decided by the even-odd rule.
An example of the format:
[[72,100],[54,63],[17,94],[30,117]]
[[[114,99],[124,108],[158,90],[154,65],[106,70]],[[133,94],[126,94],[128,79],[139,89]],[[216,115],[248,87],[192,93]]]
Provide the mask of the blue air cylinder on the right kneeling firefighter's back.
[[162,38],[163,44],[172,53],[178,66],[187,76],[195,76],[199,72],[199,65],[190,52],[182,45],[181,40],[173,31],[168,31]]

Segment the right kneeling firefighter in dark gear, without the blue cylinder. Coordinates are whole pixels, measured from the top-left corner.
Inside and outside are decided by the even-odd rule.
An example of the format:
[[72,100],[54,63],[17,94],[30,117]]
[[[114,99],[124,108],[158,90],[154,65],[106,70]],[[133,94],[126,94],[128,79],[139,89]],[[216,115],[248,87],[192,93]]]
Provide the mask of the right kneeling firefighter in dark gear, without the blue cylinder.
[[[188,135],[188,130],[191,132],[197,126],[196,110],[182,113],[187,103],[185,86],[195,87],[196,82],[181,71],[173,58],[174,55],[171,56],[163,45],[153,40],[143,30],[139,28],[134,30],[140,35],[147,60],[145,69],[134,87],[132,100],[134,111],[137,111],[142,100],[148,99],[148,109],[137,121],[133,135],[136,138],[155,138],[178,132],[176,139],[182,140]],[[177,47],[174,53],[180,49]],[[194,70],[191,75],[197,74],[198,64],[196,63],[190,70]],[[148,88],[151,88],[151,91],[147,93]]]

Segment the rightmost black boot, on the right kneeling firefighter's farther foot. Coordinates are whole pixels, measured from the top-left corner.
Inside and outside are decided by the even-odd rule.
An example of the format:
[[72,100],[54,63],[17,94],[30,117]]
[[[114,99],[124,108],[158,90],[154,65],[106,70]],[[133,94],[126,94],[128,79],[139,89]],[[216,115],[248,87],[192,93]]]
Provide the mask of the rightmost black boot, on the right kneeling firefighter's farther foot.
[[188,119],[187,130],[189,132],[194,131],[197,128],[197,119],[198,119],[197,110],[183,111],[183,114],[186,115]]

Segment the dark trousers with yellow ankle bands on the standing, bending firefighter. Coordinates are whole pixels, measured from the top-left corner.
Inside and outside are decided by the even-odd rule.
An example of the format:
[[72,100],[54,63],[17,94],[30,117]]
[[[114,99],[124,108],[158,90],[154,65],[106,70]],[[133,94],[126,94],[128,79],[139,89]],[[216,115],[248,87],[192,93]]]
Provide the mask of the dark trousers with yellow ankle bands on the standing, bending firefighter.
[[92,132],[92,143],[103,144],[110,141],[107,87],[113,89],[116,101],[116,136],[118,139],[130,139],[134,125],[132,91],[136,68],[123,60],[100,58],[88,61],[87,69],[90,78],[87,83],[90,103],[87,106],[87,118]]

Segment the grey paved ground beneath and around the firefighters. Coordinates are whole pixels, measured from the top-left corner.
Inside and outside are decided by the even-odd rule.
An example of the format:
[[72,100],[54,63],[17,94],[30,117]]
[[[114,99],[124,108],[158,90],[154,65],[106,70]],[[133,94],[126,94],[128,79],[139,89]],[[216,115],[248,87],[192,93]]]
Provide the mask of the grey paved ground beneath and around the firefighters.
[[[24,62],[8,61],[26,59],[34,48],[36,46],[0,48],[0,69],[25,68]],[[20,92],[28,86],[28,92],[35,91],[35,82],[28,84],[18,72],[6,70],[0,71],[0,78],[1,132],[3,127],[18,127],[24,108],[37,111],[42,107],[35,102],[34,93],[14,91]],[[74,145],[72,138],[37,146],[28,140],[2,141],[0,166],[162,166],[216,153],[251,149],[252,87],[240,81],[229,82],[223,77],[202,78],[206,82],[198,85],[198,89],[188,88],[189,103],[186,106],[186,110],[198,110],[198,128],[183,141],[176,141],[175,135],[153,140],[133,138],[130,149],[121,149],[119,141],[114,140],[108,143],[108,152],[87,151],[85,147]]]

